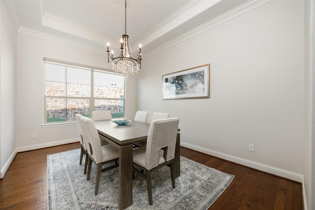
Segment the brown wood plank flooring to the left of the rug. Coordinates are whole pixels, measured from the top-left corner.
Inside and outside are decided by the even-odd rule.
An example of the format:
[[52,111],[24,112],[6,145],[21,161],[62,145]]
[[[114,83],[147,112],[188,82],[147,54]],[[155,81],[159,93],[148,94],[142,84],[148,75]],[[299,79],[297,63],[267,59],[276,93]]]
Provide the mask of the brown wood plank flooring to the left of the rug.
[[78,148],[73,143],[18,153],[0,180],[0,209],[47,210],[47,154]]

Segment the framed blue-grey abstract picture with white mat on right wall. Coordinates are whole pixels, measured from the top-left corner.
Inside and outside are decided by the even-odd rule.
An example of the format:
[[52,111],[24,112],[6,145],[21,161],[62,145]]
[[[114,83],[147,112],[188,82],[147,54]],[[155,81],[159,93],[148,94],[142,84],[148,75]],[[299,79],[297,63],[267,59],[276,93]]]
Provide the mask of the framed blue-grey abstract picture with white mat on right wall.
[[210,64],[162,75],[163,99],[210,98]]

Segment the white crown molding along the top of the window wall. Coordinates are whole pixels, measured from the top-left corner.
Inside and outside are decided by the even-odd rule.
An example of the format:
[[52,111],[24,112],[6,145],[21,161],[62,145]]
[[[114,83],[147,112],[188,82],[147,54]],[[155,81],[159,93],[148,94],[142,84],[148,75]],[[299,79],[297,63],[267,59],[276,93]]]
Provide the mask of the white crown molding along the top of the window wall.
[[33,30],[27,27],[20,27],[18,30],[19,33],[23,33],[23,34],[27,34],[27,35],[31,35],[31,36],[35,36],[41,39],[46,39],[49,41],[54,41],[57,43],[61,43],[61,44],[65,44],[65,45],[69,45],[71,47],[77,47],[83,50],[88,50],[88,51],[92,51],[95,53],[101,53],[101,54],[107,54],[105,48],[104,49],[100,49],[100,48],[95,48],[95,47],[91,47],[90,45],[86,45],[86,44],[82,44],[80,42],[76,42],[70,39],[65,39],[62,38],[60,36],[56,36],[56,35],[52,35],[49,33],[45,33],[42,31],[38,31],[38,30]]

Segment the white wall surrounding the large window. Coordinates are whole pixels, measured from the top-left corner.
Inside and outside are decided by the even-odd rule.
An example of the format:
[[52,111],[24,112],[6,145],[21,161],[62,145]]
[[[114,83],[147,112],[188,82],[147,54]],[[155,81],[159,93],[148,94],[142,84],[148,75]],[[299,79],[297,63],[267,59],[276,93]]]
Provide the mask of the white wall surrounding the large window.
[[[107,63],[107,54],[76,47],[73,44],[68,45],[54,40],[50,41],[45,38],[39,38],[36,37],[35,33],[34,35],[18,33],[18,108],[16,111],[18,151],[78,141],[76,125],[45,128],[41,126],[44,115],[44,57],[107,69],[111,68],[111,64]],[[134,88],[128,87],[128,89],[128,92],[132,96]],[[128,101],[126,112],[135,112],[135,108],[132,105],[133,98],[131,97],[130,101]],[[32,133],[37,133],[36,139],[32,139]]]

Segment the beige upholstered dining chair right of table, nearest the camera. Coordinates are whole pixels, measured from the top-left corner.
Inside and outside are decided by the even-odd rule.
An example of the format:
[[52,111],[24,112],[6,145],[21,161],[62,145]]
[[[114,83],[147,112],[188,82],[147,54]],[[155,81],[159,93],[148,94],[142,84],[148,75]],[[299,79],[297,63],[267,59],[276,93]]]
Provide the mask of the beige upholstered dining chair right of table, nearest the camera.
[[[153,205],[151,172],[170,166],[172,187],[175,188],[174,157],[179,118],[153,120],[148,133],[147,146],[133,150],[133,172],[147,180],[149,204]],[[136,166],[136,167],[135,167]],[[139,171],[140,168],[141,171]],[[144,174],[142,173],[144,171]]]

